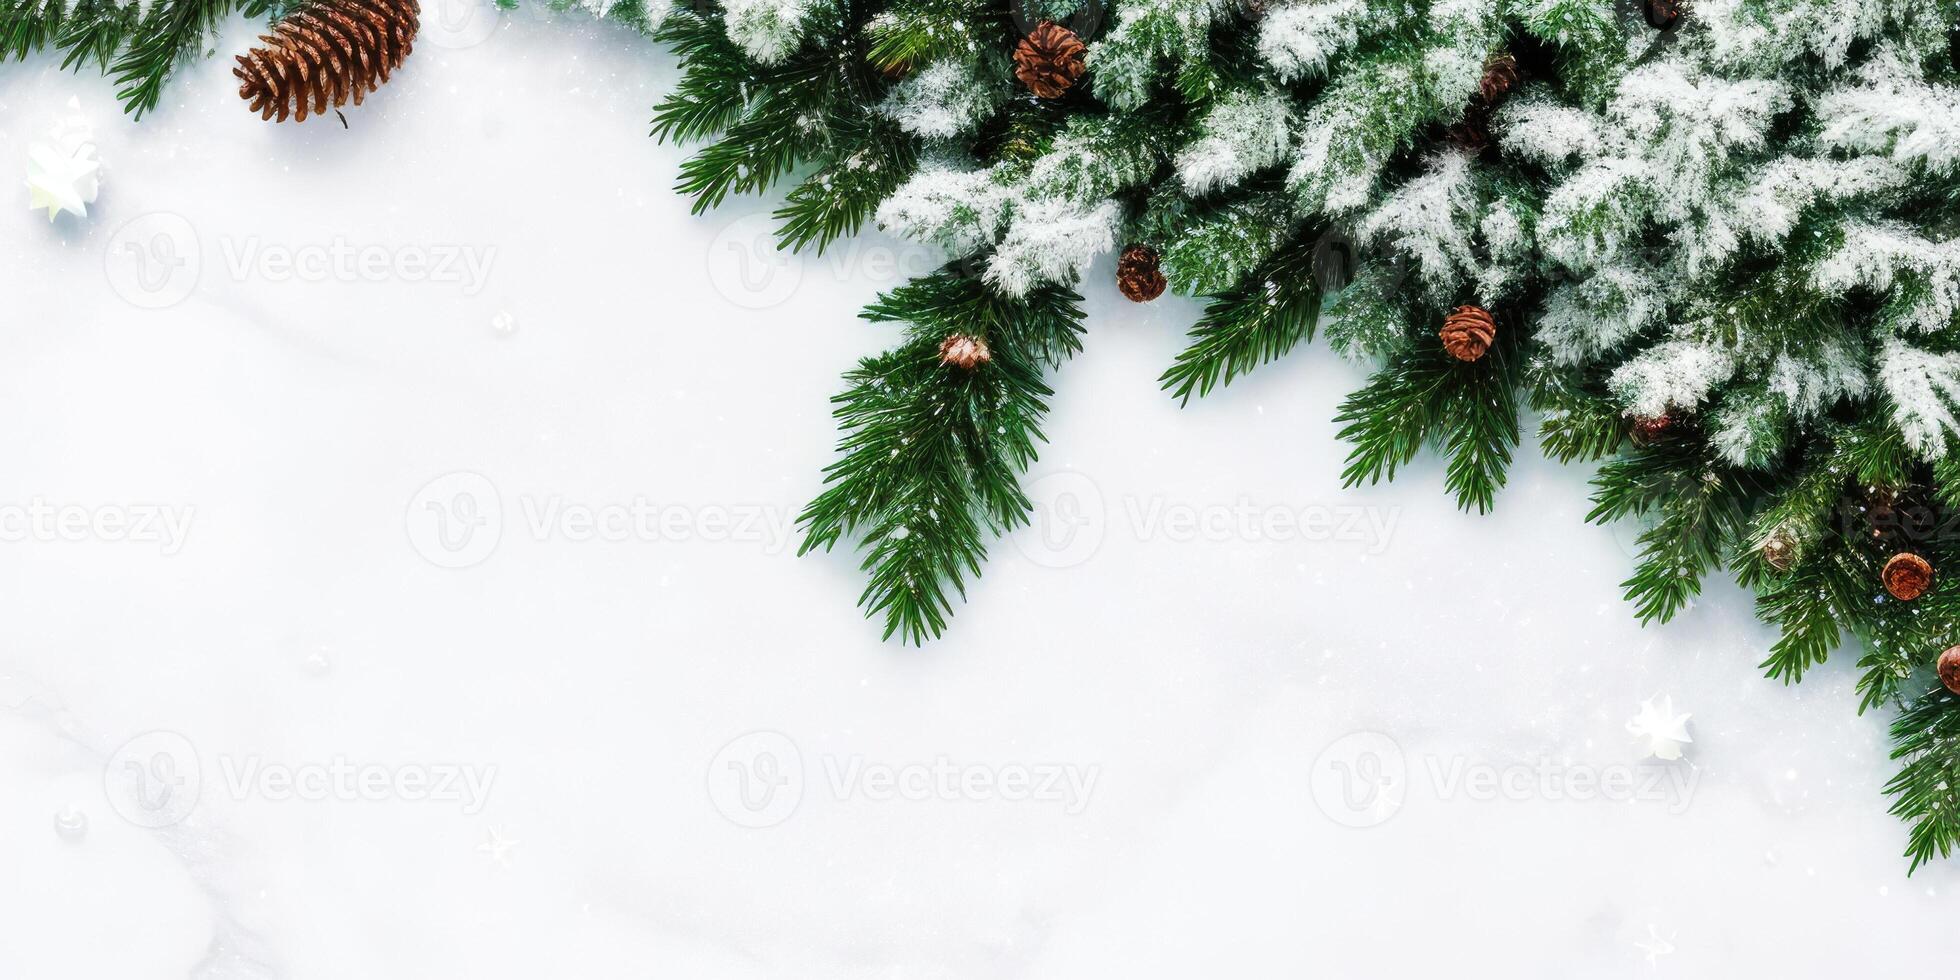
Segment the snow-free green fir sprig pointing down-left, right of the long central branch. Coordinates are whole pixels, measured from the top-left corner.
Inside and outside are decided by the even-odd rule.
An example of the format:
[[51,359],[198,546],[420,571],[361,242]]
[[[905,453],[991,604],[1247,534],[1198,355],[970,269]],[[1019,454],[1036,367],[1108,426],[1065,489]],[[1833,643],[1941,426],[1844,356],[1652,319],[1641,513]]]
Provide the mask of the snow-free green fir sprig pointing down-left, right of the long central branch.
[[[1178,404],[1190,404],[1258,365],[1286,357],[1313,339],[1321,286],[1311,274],[1313,241],[1301,239],[1272,257],[1239,286],[1215,296],[1192,325],[1192,341],[1158,376]],[[1305,272],[1305,274],[1303,274]]]

